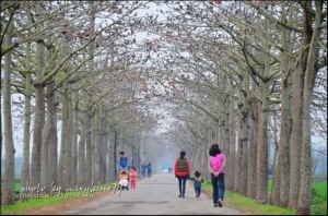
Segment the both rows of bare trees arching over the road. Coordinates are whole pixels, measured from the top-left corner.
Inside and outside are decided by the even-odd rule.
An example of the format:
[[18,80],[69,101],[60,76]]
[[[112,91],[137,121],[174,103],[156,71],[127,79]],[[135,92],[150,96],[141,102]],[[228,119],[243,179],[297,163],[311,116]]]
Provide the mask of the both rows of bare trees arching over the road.
[[[157,14],[140,14],[148,4],[161,5]],[[227,189],[258,203],[268,201],[273,142],[270,202],[309,214],[311,139],[327,136],[326,4],[2,1],[2,204],[14,202],[11,96],[19,93],[23,185],[115,180],[118,148],[139,167],[144,134],[168,124],[162,137],[203,173],[207,149],[219,143]],[[153,37],[139,40],[140,32]]]

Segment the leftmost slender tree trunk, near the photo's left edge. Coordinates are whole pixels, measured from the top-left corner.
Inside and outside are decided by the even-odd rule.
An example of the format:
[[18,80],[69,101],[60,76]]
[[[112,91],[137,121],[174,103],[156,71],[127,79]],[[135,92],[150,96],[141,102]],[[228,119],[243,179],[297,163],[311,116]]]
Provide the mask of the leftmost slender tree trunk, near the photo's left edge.
[[[4,36],[4,47],[12,44],[13,20],[9,22],[8,33]],[[5,164],[3,187],[1,185],[1,205],[11,205],[14,203],[14,158],[15,148],[12,134],[12,113],[11,113],[11,58],[12,52],[4,55],[3,73],[3,116],[4,116],[4,148]],[[2,134],[1,134],[2,135]]]

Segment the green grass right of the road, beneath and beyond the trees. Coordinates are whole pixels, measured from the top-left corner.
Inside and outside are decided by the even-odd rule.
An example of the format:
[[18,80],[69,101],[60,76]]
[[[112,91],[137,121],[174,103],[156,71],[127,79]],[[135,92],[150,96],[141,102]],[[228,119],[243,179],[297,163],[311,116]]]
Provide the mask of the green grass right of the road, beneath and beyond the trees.
[[[212,196],[212,184],[206,181],[202,184],[206,194]],[[268,192],[271,191],[271,182],[268,185]],[[295,215],[295,209],[283,208],[269,204],[258,204],[255,200],[246,197],[237,192],[225,191],[224,203],[229,207],[233,207],[246,214],[251,215]],[[327,215],[327,181],[318,181],[313,183],[313,204],[311,208],[312,215]]]

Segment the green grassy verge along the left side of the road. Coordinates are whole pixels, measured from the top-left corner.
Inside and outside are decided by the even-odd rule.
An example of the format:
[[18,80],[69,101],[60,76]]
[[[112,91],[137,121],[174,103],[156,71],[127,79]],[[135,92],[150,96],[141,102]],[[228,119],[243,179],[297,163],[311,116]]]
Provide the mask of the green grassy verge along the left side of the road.
[[[13,214],[23,214],[27,211],[32,211],[39,207],[56,205],[60,203],[66,203],[70,200],[87,200],[87,199],[95,199],[97,195],[102,195],[104,193],[113,193],[114,188],[112,187],[113,183],[117,182],[108,182],[98,185],[98,191],[91,191],[91,190],[82,190],[79,189],[73,192],[66,192],[66,193],[56,193],[55,195],[44,195],[42,197],[31,197],[26,202],[16,201],[13,205],[1,205],[1,215],[13,215]],[[108,189],[112,187],[112,191]],[[15,190],[20,190],[20,184],[15,183]]]

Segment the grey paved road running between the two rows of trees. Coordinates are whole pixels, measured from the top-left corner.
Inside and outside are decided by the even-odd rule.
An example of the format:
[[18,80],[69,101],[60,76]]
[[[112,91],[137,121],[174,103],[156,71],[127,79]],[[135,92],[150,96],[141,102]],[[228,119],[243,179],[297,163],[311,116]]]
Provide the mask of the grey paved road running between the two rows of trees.
[[108,195],[86,206],[62,212],[61,215],[243,215],[229,207],[213,207],[206,194],[195,197],[191,182],[187,182],[186,197],[178,197],[178,180],[171,173],[155,175],[137,181],[136,189],[120,195]]

